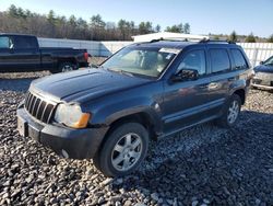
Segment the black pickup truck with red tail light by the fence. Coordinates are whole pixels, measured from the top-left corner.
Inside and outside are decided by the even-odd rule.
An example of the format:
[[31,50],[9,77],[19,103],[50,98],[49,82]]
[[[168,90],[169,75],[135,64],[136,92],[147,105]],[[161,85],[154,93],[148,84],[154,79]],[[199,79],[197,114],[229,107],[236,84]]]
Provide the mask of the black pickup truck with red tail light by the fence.
[[87,67],[87,59],[86,49],[39,47],[36,36],[0,34],[0,72],[56,73]]

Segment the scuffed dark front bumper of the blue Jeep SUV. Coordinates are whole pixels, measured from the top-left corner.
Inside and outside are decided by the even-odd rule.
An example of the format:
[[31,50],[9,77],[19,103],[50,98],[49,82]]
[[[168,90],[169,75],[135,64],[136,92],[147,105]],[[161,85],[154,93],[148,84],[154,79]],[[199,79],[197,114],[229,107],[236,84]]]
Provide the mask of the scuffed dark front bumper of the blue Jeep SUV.
[[90,159],[95,156],[108,127],[72,129],[45,124],[21,106],[17,108],[17,130],[20,135],[32,137],[66,158]]

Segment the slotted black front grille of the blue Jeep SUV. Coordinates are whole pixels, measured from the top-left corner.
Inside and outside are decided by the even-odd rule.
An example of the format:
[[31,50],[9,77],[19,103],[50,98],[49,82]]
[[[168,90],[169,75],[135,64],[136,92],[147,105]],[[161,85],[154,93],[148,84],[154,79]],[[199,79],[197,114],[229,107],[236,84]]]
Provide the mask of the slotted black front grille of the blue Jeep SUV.
[[28,92],[25,99],[25,110],[37,119],[50,123],[55,105]]

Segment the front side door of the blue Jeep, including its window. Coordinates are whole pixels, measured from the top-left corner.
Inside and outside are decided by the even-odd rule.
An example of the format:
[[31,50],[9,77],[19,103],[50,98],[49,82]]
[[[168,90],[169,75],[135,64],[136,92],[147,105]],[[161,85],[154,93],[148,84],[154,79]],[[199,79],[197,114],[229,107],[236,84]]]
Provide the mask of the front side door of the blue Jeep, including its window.
[[181,69],[194,69],[198,80],[165,83],[164,133],[170,134],[182,127],[206,118],[210,77],[206,73],[206,52],[204,46],[185,52],[174,73]]

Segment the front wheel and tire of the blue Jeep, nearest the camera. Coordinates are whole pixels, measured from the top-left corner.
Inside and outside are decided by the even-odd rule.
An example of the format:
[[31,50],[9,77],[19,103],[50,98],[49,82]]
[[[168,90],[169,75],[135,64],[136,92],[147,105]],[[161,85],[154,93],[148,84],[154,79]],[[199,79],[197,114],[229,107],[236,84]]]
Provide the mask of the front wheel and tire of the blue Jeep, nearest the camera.
[[122,124],[106,138],[93,159],[95,167],[104,175],[127,175],[144,160],[149,148],[149,133],[141,124]]

